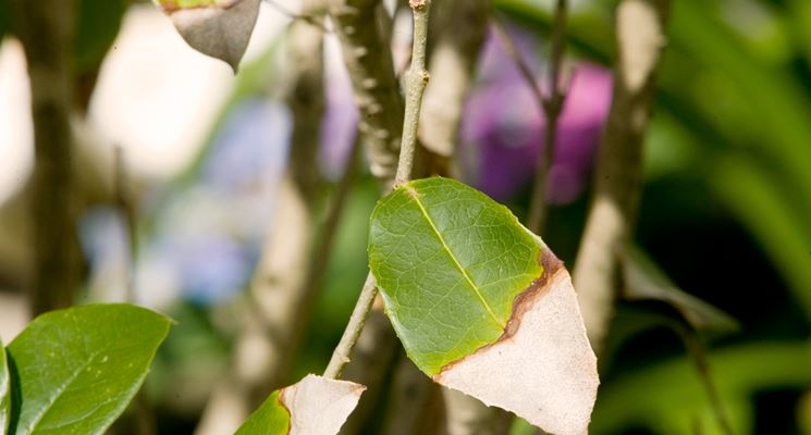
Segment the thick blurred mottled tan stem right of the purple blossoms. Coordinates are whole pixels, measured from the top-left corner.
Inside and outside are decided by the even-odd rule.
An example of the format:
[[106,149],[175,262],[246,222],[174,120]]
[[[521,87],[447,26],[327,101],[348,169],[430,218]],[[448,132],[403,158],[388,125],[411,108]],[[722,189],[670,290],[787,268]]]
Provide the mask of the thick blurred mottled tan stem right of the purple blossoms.
[[630,238],[642,179],[642,141],[665,42],[668,0],[624,0],[619,59],[594,179],[594,198],[572,274],[591,347],[599,356],[617,294],[618,252]]

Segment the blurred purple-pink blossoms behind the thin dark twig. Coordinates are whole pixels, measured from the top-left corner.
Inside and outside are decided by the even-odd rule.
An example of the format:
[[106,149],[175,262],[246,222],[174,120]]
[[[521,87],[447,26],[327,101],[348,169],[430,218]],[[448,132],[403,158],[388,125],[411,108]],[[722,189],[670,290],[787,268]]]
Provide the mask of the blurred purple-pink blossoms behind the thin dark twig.
[[[534,40],[511,33],[542,85]],[[558,120],[546,192],[551,203],[574,201],[588,183],[611,104],[611,87],[609,71],[591,64],[575,69]],[[534,176],[545,124],[526,80],[491,33],[479,65],[478,86],[463,117],[459,156],[464,178],[496,200],[512,199]]]

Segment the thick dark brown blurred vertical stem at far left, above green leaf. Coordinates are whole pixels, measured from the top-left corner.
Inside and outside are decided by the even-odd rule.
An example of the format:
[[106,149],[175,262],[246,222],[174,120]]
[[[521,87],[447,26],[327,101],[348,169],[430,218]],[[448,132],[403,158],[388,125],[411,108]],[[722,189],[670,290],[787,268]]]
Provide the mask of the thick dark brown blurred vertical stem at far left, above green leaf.
[[28,63],[34,116],[33,313],[71,304],[77,284],[77,241],[71,171],[70,55],[75,3],[14,0],[12,20]]

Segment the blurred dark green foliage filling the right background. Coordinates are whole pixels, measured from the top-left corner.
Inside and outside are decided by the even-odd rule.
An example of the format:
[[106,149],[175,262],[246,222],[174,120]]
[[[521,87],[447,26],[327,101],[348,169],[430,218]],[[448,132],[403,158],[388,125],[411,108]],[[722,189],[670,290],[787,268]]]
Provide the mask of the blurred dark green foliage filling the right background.
[[[685,289],[741,320],[740,334],[709,344],[737,433],[796,433],[811,385],[811,3],[671,3],[638,239]],[[496,5],[549,33],[538,2]],[[615,7],[575,8],[574,52],[613,58]],[[592,432],[720,433],[675,335],[634,322],[615,319]],[[760,406],[774,391],[789,397],[784,410]]]

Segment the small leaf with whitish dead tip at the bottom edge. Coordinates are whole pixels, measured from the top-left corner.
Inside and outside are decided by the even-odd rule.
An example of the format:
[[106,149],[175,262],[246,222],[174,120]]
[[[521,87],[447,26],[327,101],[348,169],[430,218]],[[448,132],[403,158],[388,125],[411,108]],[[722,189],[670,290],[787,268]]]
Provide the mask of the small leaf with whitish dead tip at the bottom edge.
[[352,382],[307,375],[273,391],[236,435],[335,435],[365,389]]

